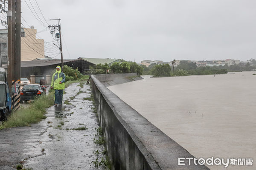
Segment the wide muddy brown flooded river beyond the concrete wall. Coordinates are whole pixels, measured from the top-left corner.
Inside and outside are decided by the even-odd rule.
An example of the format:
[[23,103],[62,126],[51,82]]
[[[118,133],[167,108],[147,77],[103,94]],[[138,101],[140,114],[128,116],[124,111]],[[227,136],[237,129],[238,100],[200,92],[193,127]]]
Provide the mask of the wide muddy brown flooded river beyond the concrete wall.
[[144,77],[108,87],[197,158],[253,158],[256,169],[256,72]]

